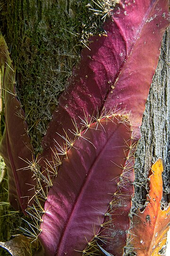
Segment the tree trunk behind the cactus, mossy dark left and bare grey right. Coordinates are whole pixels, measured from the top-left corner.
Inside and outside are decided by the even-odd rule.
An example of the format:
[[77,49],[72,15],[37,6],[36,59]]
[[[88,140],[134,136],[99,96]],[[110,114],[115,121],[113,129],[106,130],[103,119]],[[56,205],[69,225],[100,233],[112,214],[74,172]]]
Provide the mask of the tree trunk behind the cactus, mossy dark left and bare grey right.
[[[86,7],[88,3],[89,0],[1,1],[1,33],[5,36],[16,69],[17,95],[26,112],[35,153],[42,150],[41,140],[57,106],[58,97],[64,90],[73,66],[79,61],[83,45],[80,41],[85,42],[88,33],[96,33],[101,29],[100,19],[90,19]],[[93,25],[94,21],[97,28]],[[165,162],[163,202],[166,204],[170,201],[169,37],[170,30],[167,30],[146,102],[142,138],[136,151],[133,212],[138,206],[144,205],[149,168],[159,157]],[[3,187],[7,187],[5,180],[1,185],[1,201],[7,200]],[[4,215],[3,209],[1,215]],[[0,219],[0,240],[10,239],[14,229],[21,225],[19,215],[11,216]],[[5,253],[1,251],[0,255]]]

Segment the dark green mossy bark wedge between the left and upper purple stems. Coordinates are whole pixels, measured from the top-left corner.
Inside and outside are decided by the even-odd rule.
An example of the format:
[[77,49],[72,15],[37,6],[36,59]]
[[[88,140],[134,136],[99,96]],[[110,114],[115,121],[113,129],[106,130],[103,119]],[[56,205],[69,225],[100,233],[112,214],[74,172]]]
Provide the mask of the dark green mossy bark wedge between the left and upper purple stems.
[[79,58],[79,34],[87,19],[85,2],[8,0],[2,5],[6,16],[2,30],[36,151],[41,151],[51,113]]

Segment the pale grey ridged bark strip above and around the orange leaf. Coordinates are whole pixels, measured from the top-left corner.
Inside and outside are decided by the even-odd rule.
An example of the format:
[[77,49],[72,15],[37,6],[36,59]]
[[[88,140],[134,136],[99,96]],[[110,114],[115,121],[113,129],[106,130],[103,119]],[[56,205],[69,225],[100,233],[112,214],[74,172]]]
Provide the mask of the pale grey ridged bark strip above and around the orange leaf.
[[[170,202],[170,28],[163,36],[161,54],[146,102],[141,139],[136,150],[134,208],[144,205],[149,168],[158,158],[165,165],[163,203]],[[134,209],[133,209],[134,210]]]

